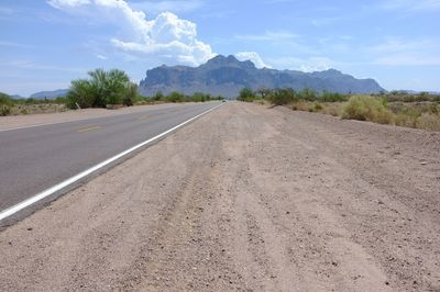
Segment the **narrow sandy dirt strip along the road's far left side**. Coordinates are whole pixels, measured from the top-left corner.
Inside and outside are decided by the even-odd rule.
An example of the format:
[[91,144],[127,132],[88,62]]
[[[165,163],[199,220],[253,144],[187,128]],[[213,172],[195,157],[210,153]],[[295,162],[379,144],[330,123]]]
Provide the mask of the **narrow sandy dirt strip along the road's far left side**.
[[28,114],[28,115],[0,116],[0,131],[18,128],[18,127],[28,127],[33,125],[73,122],[73,121],[119,115],[132,112],[142,112],[151,109],[157,109],[161,106],[169,108],[169,106],[179,106],[183,104],[184,103],[179,104],[166,103],[166,104],[155,104],[155,105],[136,105],[130,108],[122,108],[118,110],[84,109],[84,110],[75,110],[75,111],[67,111],[59,113],[40,113],[40,114]]

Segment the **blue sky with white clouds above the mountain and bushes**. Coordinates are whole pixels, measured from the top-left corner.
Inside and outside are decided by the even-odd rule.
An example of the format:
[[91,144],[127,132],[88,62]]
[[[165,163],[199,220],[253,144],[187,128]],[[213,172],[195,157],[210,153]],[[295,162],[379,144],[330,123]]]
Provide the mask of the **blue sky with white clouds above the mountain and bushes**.
[[439,15],[440,0],[2,0],[0,91],[68,88],[95,68],[139,81],[216,54],[440,91]]

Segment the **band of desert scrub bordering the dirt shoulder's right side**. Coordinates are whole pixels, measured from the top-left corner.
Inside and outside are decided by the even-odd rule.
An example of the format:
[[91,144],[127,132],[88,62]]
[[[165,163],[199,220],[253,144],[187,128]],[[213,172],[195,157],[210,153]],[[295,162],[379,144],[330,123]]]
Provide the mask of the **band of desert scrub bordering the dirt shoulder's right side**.
[[373,96],[340,94],[311,89],[243,89],[238,100],[284,105],[294,111],[308,111],[429,131],[440,131],[440,96],[428,92],[382,92]]

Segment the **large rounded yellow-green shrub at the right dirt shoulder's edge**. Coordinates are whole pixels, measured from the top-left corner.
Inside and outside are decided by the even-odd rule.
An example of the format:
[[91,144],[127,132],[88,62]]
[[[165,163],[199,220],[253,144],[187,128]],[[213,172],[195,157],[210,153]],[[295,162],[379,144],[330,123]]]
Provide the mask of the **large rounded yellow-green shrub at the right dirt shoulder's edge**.
[[382,99],[353,96],[343,106],[342,119],[389,124],[393,123],[393,113],[386,109]]

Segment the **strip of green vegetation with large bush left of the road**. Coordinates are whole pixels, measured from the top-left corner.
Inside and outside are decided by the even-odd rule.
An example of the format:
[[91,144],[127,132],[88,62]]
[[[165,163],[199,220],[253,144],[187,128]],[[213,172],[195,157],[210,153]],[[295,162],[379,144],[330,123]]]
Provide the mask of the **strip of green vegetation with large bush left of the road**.
[[0,92],[0,116],[54,113],[75,109],[107,108],[155,104],[165,102],[206,102],[223,100],[222,97],[196,92],[187,96],[180,92],[163,94],[157,92],[153,97],[139,94],[138,85],[129,76],[118,69],[96,69],[88,72],[87,79],[76,79],[70,82],[70,91],[66,97],[56,99],[13,99]]

